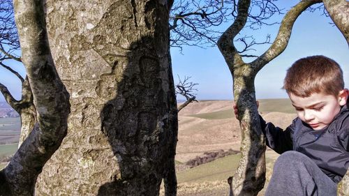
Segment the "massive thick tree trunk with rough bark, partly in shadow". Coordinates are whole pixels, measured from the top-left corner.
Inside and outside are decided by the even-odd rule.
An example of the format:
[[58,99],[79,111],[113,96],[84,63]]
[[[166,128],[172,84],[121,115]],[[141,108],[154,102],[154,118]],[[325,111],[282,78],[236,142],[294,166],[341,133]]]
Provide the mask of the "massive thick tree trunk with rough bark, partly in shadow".
[[163,178],[167,194],[176,194],[170,6],[47,1],[47,31],[71,113],[36,195],[158,195]]

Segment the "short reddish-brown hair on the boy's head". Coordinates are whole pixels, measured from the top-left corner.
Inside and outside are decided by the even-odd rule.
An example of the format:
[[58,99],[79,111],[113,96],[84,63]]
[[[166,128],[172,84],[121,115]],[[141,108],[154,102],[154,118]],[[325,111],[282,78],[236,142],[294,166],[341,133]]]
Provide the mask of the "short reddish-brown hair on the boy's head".
[[303,98],[312,93],[338,96],[344,89],[343,71],[326,56],[308,56],[295,61],[287,70],[283,89]]

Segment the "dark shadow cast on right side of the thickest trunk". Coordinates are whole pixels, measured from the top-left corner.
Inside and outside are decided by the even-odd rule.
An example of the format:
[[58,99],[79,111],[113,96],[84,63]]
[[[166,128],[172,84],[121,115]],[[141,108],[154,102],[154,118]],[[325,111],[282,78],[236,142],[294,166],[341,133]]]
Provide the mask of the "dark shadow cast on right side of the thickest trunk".
[[116,83],[104,89],[116,96],[100,115],[119,170],[98,195],[158,195],[162,179],[175,195],[177,103],[170,52],[159,57],[156,41],[143,37],[133,43],[125,56],[115,56],[112,72],[101,76]]

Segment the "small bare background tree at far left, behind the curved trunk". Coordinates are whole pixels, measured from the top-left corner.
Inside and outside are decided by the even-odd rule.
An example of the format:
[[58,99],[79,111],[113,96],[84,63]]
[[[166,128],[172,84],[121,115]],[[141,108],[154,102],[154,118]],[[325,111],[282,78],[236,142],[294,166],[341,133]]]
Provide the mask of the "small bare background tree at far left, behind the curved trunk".
[[36,109],[28,78],[23,78],[16,70],[7,65],[11,61],[22,63],[22,58],[17,54],[20,51],[20,40],[18,40],[11,0],[4,0],[0,3],[0,25],[0,66],[13,73],[22,82],[22,98],[20,100],[15,100],[6,86],[0,83],[0,91],[7,103],[21,116],[20,146],[34,128]]

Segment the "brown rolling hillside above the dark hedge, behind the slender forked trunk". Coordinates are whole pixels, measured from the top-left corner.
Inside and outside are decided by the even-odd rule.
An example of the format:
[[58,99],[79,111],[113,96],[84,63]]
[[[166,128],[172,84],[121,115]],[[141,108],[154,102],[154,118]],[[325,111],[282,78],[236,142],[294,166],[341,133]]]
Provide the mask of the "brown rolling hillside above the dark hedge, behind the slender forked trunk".
[[[176,160],[184,163],[207,151],[239,150],[241,133],[232,103],[232,100],[200,101],[179,112]],[[260,100],[260,114],[265,121],[286,128],[296,117],[289,100],[276,99],[276,104],[272,103],[272,100]]]

